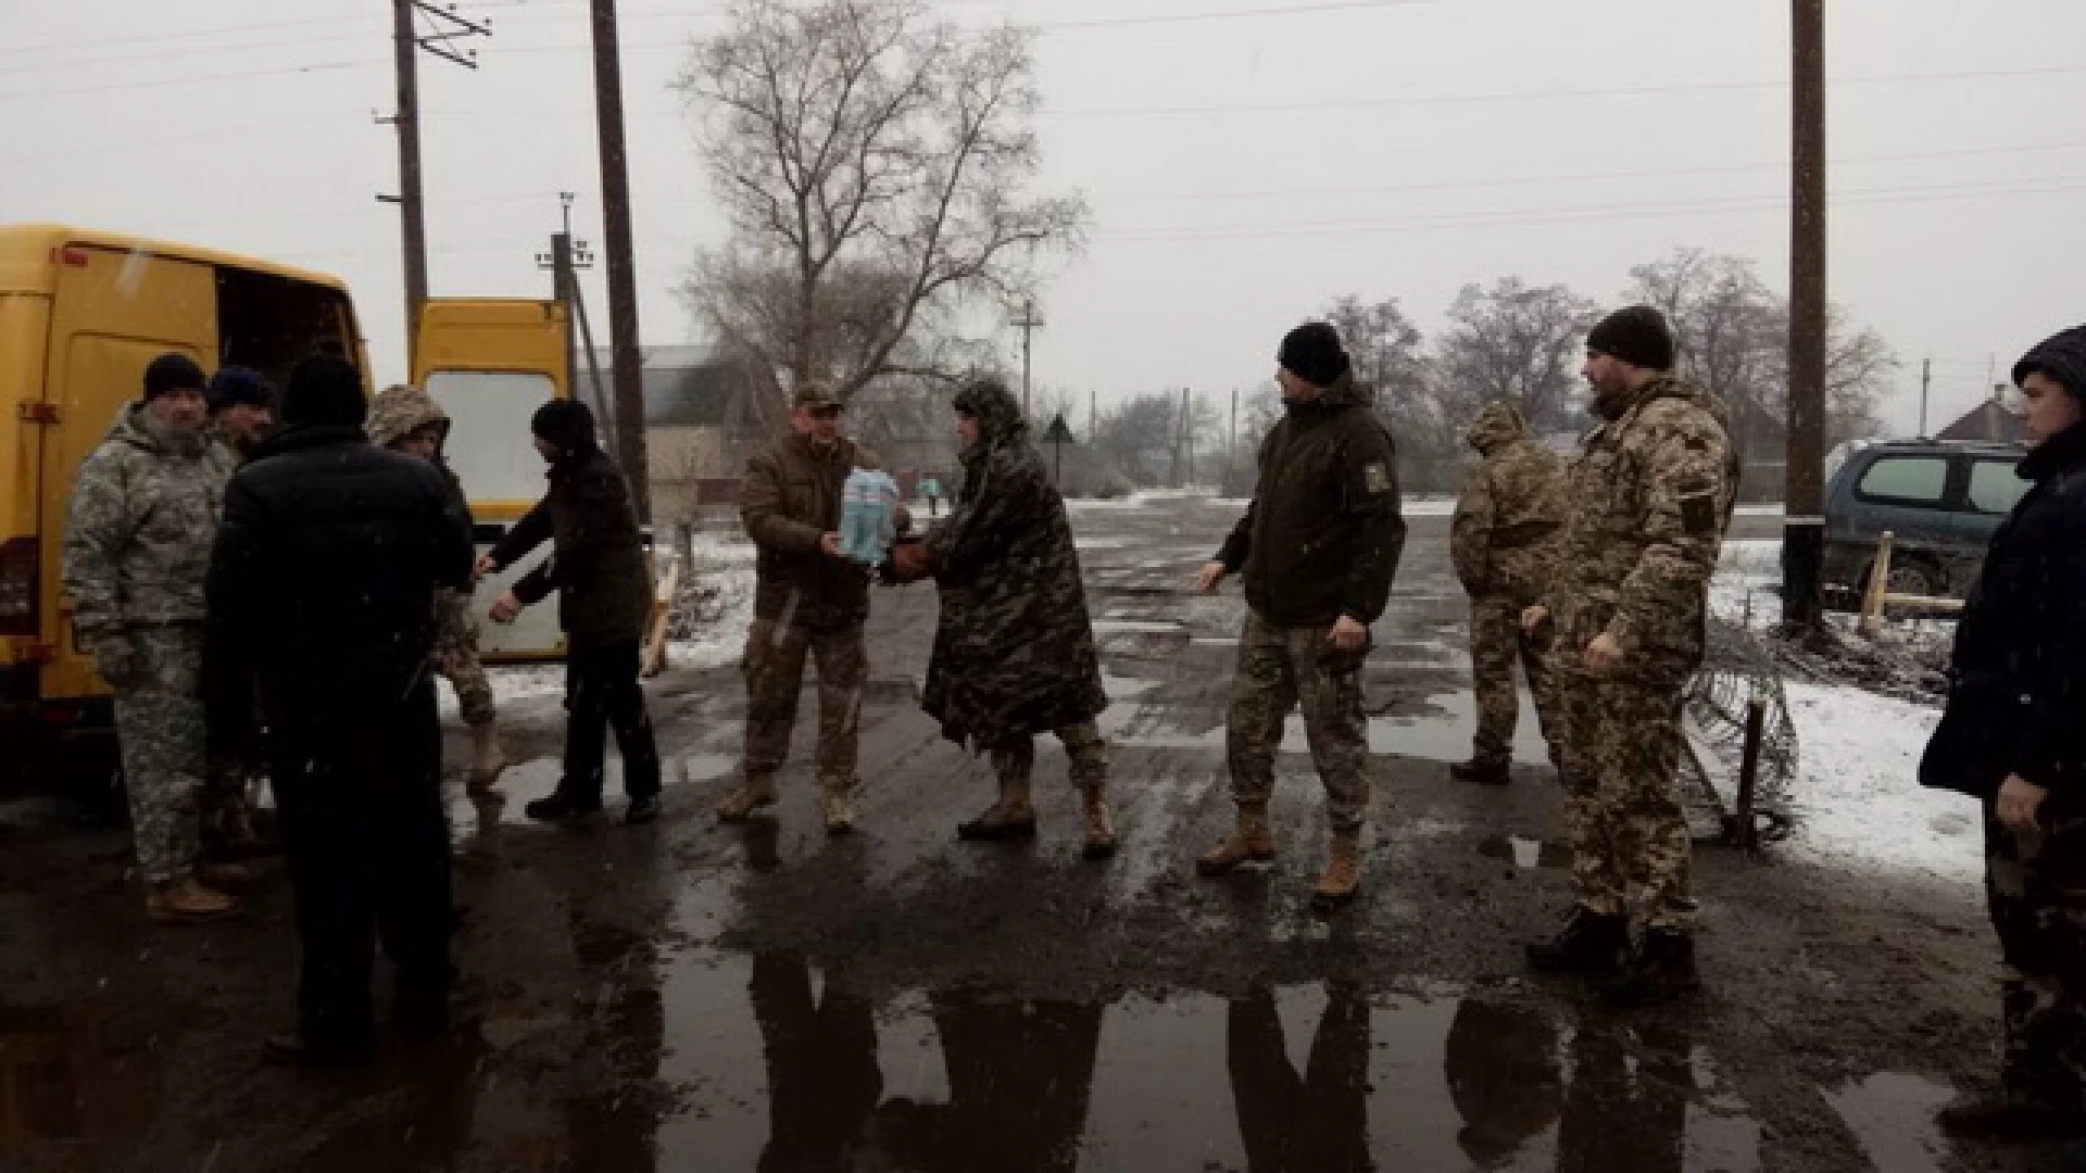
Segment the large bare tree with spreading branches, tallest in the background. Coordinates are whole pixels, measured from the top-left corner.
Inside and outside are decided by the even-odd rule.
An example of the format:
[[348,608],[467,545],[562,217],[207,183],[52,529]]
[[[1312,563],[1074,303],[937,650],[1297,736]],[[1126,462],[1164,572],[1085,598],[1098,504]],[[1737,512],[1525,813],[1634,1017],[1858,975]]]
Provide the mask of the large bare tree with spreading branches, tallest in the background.
[[949,378],[966,309],[1020,303],[1039,255],[1083,242],[1085,200],[1026,196],[1028,31],[920,0],[734,0],[676,90],[732,223],[684,296],[778,384]]

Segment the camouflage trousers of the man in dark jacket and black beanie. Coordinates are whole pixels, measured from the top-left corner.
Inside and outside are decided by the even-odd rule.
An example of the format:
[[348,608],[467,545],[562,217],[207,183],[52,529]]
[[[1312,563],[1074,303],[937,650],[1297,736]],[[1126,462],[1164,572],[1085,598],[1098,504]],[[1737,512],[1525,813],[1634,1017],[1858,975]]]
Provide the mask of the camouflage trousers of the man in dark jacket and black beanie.
[[1368,722],[1362,718],[1368,653],[1335,649],[1327,643],[1329,630],[1279,628],[1260,612],[1245,612],[1224,760],[1233,801],[1266,806],[1275,793],[1283,722],[1302,701],[1310,758],[1325,783],[1327,822],[1335,831],[1360,831],[1368,812]]

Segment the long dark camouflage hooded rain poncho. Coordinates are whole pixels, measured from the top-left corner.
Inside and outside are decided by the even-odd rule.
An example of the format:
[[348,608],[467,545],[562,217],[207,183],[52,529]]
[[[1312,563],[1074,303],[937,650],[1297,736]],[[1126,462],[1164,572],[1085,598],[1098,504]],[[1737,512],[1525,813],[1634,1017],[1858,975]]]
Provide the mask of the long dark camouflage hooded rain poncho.
[[989,749],[1108,708],[1064,499],[1014,397],[974,386],[983,438],[964,488],[926,536],[941,624],[922,708],[955,743]]

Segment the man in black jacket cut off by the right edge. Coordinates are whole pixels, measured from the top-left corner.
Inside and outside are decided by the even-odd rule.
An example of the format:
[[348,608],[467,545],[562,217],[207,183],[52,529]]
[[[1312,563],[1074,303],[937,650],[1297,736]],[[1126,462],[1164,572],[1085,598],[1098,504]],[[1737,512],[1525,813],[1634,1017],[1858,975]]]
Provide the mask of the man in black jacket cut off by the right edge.
[[2086,1131],[2086,326],[2013,382],[2034,486],[1992,534],[1919,764],[1923,785],[1984,801],[2007,1050],[2000,1085],[1942,1125],[1994,1138]]

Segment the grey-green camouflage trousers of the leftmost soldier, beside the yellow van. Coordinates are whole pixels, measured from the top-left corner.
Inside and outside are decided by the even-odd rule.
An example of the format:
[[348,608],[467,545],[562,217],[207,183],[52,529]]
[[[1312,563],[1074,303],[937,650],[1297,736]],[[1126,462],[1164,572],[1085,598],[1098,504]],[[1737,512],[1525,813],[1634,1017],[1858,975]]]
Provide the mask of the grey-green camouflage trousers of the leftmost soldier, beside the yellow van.
[[146,885],[188,877],[202,849],[202,628],[131,628],[138,674],[117,687],[131,841]]

